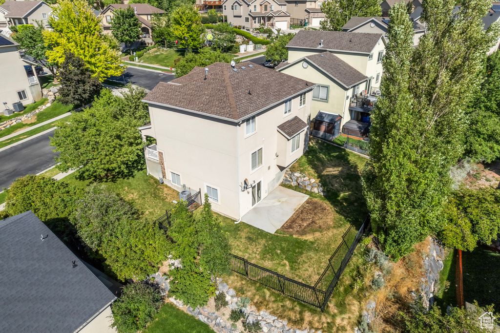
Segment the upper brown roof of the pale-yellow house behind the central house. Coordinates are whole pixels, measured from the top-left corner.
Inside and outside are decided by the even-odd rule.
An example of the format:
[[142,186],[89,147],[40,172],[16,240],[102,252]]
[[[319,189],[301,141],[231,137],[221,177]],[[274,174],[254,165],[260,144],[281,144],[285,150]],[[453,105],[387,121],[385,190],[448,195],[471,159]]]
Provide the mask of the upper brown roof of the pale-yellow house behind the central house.
[[[299,30],[286,47],[369,53],[381,37],[381,33]],[[323,40],[323,46],[319,45],[321,40]]]

